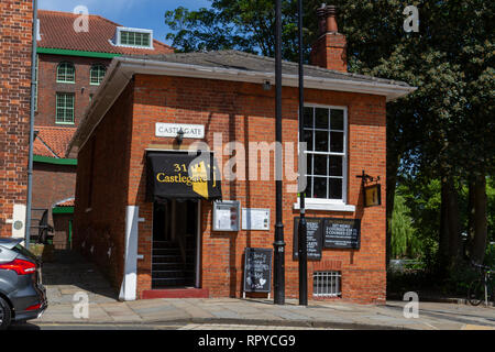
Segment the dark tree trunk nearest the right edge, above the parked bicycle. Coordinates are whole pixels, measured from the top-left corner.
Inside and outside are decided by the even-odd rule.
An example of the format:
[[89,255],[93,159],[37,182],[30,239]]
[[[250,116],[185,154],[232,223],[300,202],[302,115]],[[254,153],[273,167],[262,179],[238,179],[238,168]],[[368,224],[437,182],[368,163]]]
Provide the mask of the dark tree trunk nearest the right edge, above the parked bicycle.
[[474,185],[474,239],[471,258],[476,263],[483,263],[486,251],[486,239],[488,234],[486,219],[486,178],[484,175],[476,176]]

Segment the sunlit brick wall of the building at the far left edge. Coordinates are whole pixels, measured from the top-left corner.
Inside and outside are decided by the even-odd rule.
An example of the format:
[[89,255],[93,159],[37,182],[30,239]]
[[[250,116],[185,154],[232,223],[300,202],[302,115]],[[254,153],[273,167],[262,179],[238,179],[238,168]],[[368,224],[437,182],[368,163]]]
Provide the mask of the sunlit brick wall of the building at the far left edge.
[[0,1],[0,237],[25,205],[30,133],[32,1]]

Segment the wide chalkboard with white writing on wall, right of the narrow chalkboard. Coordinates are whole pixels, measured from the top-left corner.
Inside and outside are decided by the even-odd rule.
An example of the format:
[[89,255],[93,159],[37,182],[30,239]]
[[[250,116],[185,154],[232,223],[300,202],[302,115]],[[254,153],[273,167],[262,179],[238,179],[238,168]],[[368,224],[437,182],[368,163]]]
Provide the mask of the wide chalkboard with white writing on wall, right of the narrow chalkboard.
[[360,219],[324,219],[323,246],[326,249],[359,249],[360,245]]

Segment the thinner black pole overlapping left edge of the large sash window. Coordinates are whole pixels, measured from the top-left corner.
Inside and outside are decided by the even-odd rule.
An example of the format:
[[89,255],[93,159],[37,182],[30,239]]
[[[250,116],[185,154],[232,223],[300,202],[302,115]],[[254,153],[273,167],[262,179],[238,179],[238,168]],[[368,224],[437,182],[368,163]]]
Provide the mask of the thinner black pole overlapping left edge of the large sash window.
[[[305,142],[305,72],[304,72],[304,41],[302,41],[302,0],[298,0],[298,26],[299,26],[299,141]],[[301,151],[301,147],[299,147]],[[306,156],[306,155],[300,155]],[[300,157],[299,156],[299,157]],[[305,175],[299,175],[305,177]],[[300,189],[299,196],[299,305],[308,305],[308,244],[307,244],[307,223],[305,210],[305,191]]]

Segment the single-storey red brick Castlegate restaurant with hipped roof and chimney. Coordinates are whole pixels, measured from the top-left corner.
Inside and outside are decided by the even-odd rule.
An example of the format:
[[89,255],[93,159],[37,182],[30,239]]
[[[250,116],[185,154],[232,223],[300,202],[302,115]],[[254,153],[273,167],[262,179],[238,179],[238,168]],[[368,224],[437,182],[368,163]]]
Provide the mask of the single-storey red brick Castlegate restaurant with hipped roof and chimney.
[[[309,294],[384,302],[386,102],[414,88],[345,73],[345,41],[331,29],[322,26],[323,43],[314,57],[329,57],[318,63],[340,70],[305,69],[307,217],[318,229],[359,223],[351,229],[359,244],[339,248],[329,232],[323,235],[331,245],[317,240],[318,255],[308,263]],[[273,173],[261,174],[274,162],[251,145],[275,141],[274,65],[235,51],[112,61],[69,151],[79,165],[75,245],[99,264],[122,299],[239,297],[245,290],[245,249],[273,251],[275,180]],[[296,145],[296,155],[297,72],[297,64],[283,64],[283,141],[293,151]],[[201,162],[188,160],[185,152],[194,142],[213,153]],[[232,148],[238,158],[245,155],[235,167],[229,164]],[[287,155],[285,167],[297,172],[297,160],[290,166]],[[229,169],[238,177],[227,176]],[[207,170],[209,180],[198,176]],[[356,177],[363,170],[381,177],[378,206],[364,206]],[[299,205],[294,178],[283,185],[286,296],[296,297]]]

